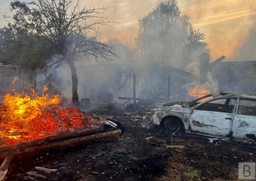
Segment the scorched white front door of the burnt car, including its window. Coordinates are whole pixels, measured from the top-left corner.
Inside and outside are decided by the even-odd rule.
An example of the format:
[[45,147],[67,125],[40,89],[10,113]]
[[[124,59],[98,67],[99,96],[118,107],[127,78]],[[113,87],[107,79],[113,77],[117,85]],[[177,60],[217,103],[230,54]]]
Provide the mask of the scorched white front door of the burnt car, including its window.
[[232,131],[235,99],[208,100],[192,108],[189,125],[194,132],[227,136]]

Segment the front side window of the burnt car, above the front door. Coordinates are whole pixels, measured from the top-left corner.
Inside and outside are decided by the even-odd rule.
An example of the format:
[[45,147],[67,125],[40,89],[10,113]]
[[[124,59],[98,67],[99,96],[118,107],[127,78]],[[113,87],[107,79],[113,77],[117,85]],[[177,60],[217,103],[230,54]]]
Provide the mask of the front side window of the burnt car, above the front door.
[[216,99],[202,104],[195,110],[233,113],[235,103],[234,99]]

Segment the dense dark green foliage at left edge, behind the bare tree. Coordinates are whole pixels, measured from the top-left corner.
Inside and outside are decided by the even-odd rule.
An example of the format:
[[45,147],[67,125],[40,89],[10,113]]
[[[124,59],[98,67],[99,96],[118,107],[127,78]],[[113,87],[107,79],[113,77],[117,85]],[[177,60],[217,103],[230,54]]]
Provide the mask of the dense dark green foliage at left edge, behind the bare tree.
[[25,66],[30,70],[43,69],[51,58],[51,48],[34,33],[16,30],[9,24],[0,29],[0,62]]

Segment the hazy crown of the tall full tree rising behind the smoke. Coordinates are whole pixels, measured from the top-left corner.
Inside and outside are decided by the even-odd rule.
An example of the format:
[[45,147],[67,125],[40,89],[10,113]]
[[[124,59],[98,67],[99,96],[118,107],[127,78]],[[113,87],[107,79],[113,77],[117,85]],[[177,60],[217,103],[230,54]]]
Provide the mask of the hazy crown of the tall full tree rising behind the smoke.
[[176,0],[159,1],[156,8],[139,20],[135,39],[138,53],[151,61],[171,61],[184,66],[189,54],[204,50],[205,35],[194,30],[189,17],[181,15]]

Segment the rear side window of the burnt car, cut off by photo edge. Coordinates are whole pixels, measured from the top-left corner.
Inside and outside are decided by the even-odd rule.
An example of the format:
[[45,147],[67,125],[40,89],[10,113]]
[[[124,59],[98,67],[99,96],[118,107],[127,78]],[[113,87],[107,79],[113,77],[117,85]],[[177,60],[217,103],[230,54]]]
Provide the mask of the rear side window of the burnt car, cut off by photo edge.
[[241,99],[237,110],[238,115],[256,116],[256,101]]

